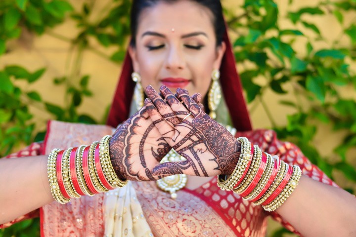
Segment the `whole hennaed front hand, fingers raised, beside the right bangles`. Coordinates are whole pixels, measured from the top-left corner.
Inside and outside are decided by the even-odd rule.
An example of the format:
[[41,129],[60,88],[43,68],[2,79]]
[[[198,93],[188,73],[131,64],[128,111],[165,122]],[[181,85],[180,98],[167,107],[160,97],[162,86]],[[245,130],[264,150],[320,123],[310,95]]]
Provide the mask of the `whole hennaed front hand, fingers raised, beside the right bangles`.
[[240,156],[240,143],[195,102],[201,101],[201,95],[190,97],[188,91],[178,88],[177,98],[166,86],[161,86],[160,92],[167,103],[152,87],[146,88],[152,101],[145,101],[146,110],[166,142],[186,160],[157,165],[152,174],[231,174]]

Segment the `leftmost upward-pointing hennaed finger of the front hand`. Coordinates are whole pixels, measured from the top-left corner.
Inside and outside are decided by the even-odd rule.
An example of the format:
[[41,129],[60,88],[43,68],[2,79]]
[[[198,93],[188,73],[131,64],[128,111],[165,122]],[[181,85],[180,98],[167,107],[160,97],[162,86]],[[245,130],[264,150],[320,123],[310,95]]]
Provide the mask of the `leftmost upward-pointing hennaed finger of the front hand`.
[[161,98],[161,96],[151,86],[146,87],[146,92],[147,97],[156,106],[158,113],[160,113],[166,121],[172,123],[172,126],[177,125],[179,123],[178,117],[173,112],[171,107]]

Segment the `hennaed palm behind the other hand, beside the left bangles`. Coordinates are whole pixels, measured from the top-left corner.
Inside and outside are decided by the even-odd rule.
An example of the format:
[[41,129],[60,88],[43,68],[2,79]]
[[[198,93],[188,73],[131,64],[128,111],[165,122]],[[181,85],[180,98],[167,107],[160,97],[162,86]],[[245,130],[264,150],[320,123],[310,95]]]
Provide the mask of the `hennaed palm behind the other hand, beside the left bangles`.
[[109,143],[111,163],[121,179],[157,180],[152,169],[171,150],[143,107],[123,122]]

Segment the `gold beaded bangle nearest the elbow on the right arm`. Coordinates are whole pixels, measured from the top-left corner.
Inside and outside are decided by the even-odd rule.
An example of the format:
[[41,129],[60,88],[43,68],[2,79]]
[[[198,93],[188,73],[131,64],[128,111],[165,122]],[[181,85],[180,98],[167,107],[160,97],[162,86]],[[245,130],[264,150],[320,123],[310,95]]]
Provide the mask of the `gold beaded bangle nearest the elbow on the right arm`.
[[297,187],[298,182],[302,176],[302,170],[298,165],[293,165],[293,175],[289,179],[288,184],[282,190],[282,192],[268,205],[263,206],[266,211],[274,211],[280,207],[285,200],[292,194],[295,187]]

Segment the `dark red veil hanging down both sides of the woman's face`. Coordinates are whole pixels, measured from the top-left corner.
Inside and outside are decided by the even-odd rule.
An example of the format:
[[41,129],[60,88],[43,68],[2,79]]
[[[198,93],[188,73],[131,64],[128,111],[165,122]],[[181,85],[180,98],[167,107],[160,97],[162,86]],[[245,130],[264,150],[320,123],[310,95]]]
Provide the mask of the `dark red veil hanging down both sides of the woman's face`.
[[[226,51],[220,67],[220,83],[223,88],[223,96],[230,112],[234,127],[238,131],[249,131],[252,129],[246,102],[242,93],[240,77],[237,74],[235,58],[227,31],[223,36]],[[132,60],[129,53],[126,54],[123,70],[116,88],[114,99],[111,104],[109,117],[106,124],[116,127],[129,118],[130,105],[134,94],[135,83],[131,79],[133,73]]]

